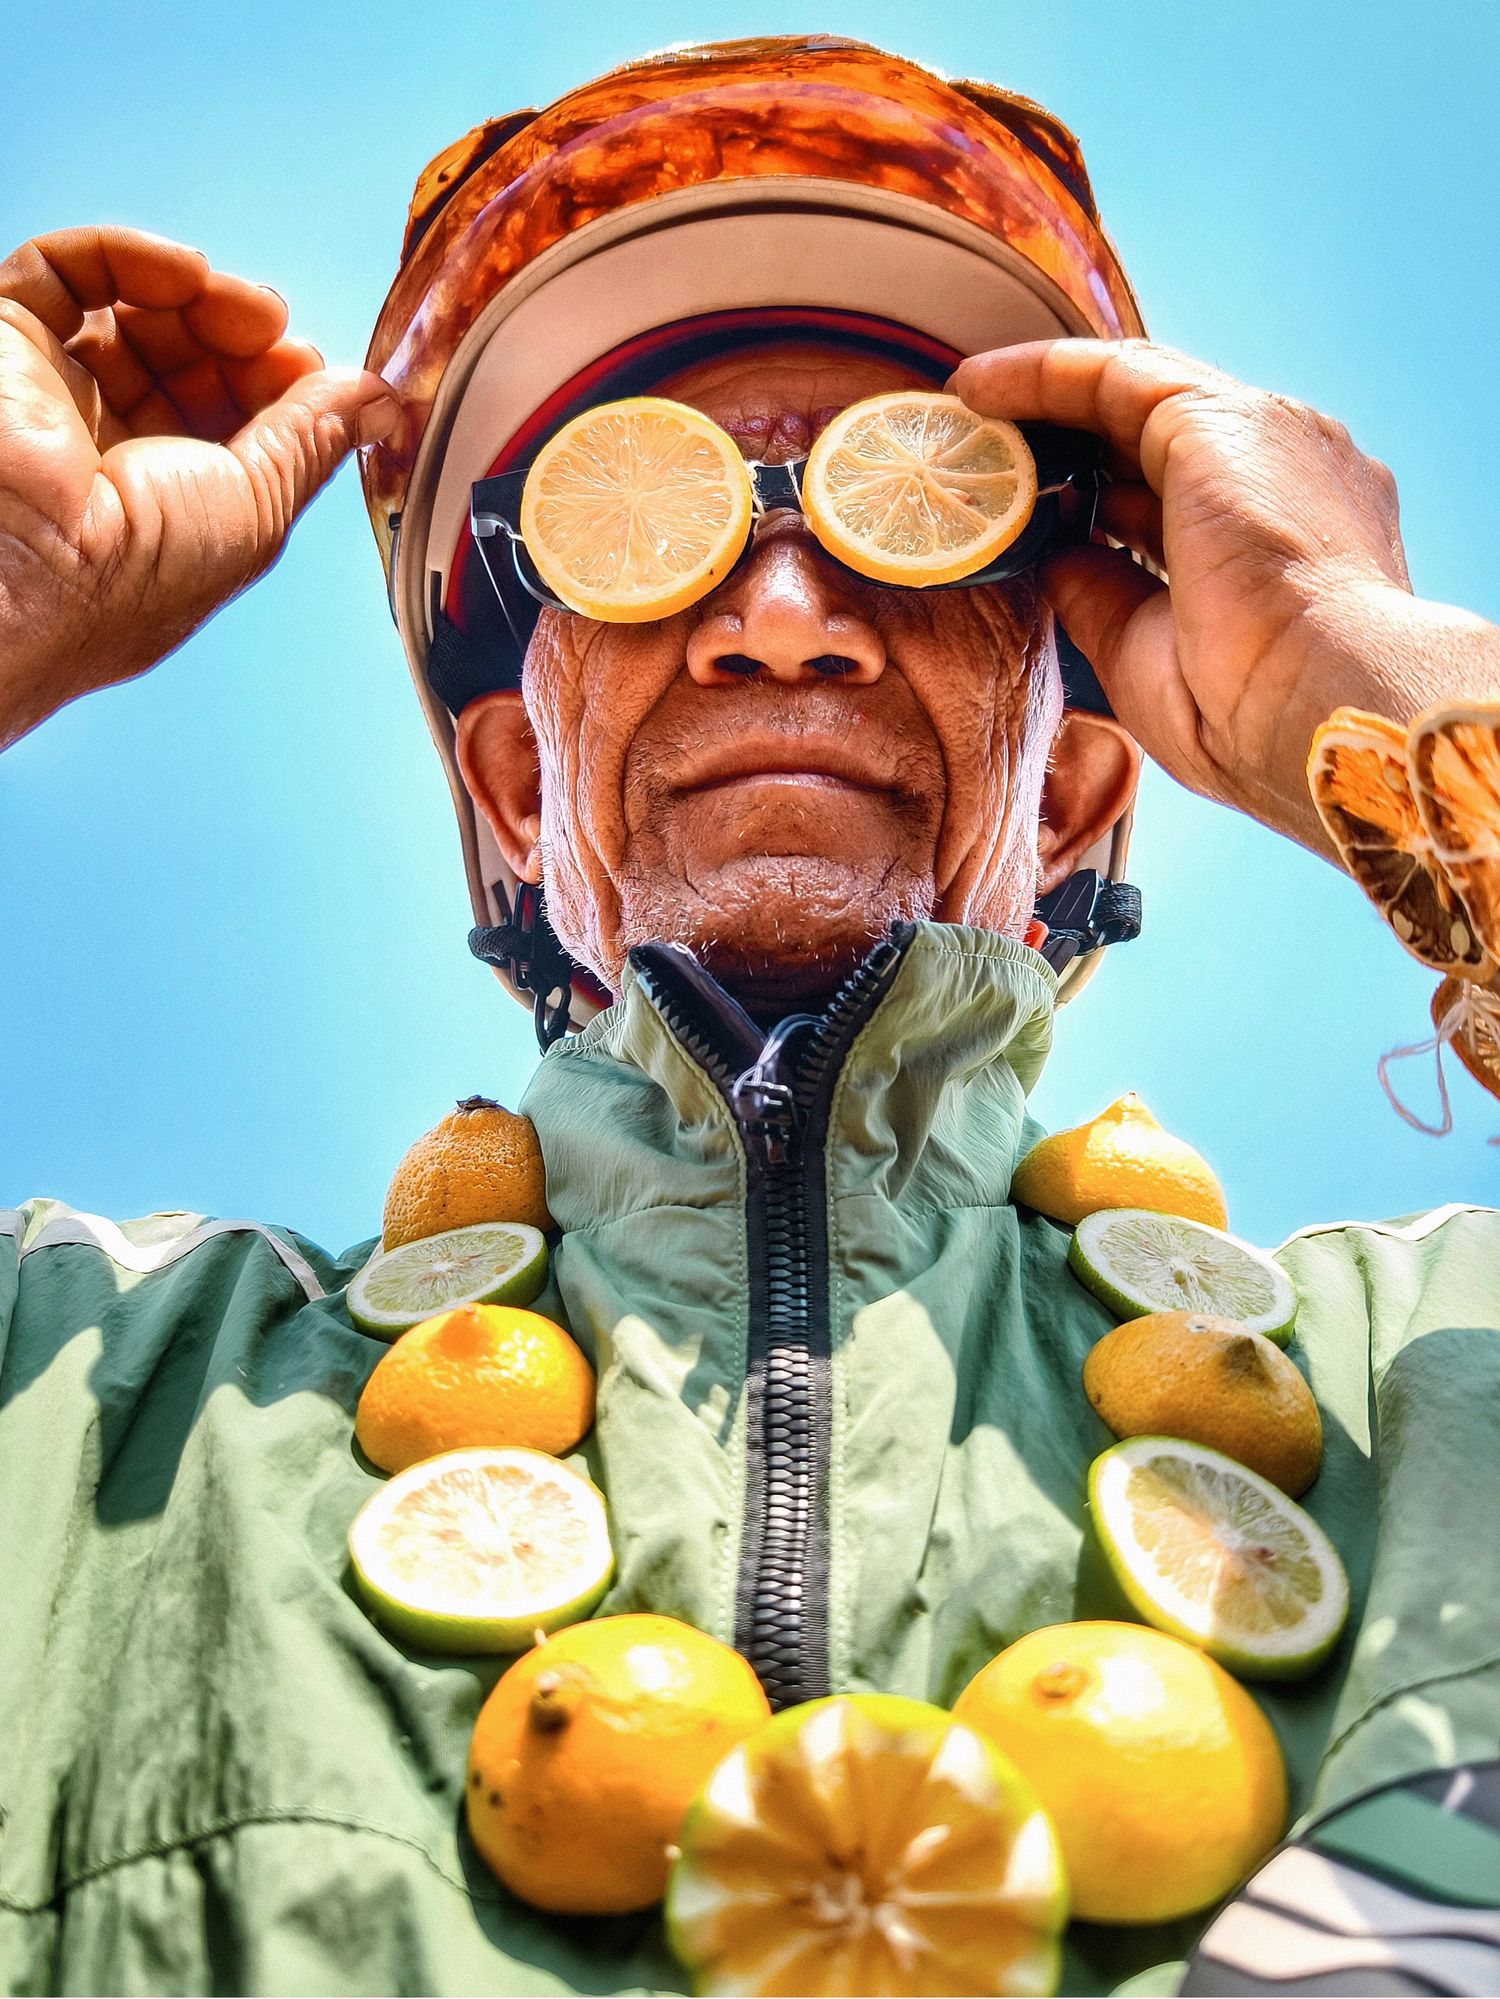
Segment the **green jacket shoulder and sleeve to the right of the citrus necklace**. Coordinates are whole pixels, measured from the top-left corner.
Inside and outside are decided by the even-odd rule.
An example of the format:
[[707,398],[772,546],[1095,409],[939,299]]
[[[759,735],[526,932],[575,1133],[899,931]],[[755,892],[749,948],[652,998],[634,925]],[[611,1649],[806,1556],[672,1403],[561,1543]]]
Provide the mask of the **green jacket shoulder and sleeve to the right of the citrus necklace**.
[[1322,1503],[1344,1513],[1354,1591],[1308,1797],[1324,1811],[1500,1755],[1500,1213],[1312,1229],[1282,1261],[1324,1429],[1346,1431],[1324,1459],[1344,1467]]

